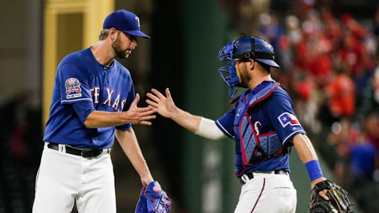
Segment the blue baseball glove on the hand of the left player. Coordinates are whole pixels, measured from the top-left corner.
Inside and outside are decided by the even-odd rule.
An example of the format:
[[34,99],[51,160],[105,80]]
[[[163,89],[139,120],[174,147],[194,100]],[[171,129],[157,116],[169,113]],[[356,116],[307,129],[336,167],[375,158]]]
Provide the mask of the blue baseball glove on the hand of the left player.
[[172,200],[167,196],[160,184],[157,181],[153,181],[141,189],[136,213],[168,213],[171,210],[171,205]]

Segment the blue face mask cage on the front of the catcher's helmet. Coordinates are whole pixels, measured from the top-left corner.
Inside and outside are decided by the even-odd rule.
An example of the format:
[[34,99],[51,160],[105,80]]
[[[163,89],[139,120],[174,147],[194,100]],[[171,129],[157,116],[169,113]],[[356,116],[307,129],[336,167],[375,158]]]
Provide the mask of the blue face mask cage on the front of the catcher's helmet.
[[235,41],[231,41],[223,46],[218,53],[218,60],[227,61],[228,64],[221,66],[218,70],[222,79],[229,86],[229,96],[233,97],[240,86],[237,76],[237,70],[235,68],[235,62],[233,60],[233,49]]

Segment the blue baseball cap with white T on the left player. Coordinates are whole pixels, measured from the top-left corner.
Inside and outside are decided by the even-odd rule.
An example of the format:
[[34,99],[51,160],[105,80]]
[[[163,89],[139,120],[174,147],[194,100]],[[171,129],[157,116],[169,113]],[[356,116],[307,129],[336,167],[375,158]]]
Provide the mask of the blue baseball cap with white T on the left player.
[[110,29],[112,27],[130,35],[150,39],[150,36],[140,30],[140,18],[136,14],[124,9],[114,11],[105,18],[103,29]]

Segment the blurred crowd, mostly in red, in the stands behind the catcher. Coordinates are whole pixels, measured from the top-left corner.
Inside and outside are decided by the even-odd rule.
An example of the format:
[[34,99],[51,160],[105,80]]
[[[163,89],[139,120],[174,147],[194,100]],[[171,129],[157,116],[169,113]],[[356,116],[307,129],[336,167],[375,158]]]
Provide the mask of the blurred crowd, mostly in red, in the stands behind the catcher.
[[[312,1],[304,1],[312,2]],[[295,112],[364,212],[379,212],[379,9],[371,19],[308,4],[298,16],[259,15]]]

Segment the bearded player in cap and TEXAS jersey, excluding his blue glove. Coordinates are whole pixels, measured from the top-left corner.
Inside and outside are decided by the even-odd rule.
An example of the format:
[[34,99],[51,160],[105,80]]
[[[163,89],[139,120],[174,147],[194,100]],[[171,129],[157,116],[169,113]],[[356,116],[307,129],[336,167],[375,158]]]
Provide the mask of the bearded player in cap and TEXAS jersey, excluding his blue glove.
[[[75,29],[73,29],[75,30]],[[36,177],[34,213],[68,213],[76,200],[80,213],[115,213],[114,137],[141,177],[154,182],[132,124],[150,125],[154,107],[138,107],[127,58],[140,30],[137,15],[109,14],[94,46],[71,53],[57,67],[41,163]]]

